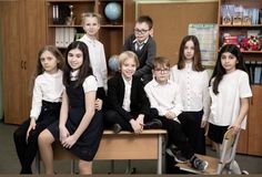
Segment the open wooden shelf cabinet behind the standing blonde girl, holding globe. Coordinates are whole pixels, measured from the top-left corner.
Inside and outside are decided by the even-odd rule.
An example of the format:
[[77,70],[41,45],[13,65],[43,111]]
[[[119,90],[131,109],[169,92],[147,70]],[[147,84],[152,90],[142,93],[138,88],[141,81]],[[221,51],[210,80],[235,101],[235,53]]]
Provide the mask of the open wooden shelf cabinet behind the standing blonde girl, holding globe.
[[[81,27],[81,14],[83,12],[95,12],[101,14],[101,28],[98,34],[99,41],[104,45],[105,58],[109,59],[113,54],[121,52],[124,39],[131,34],[134,24],[134,2],[133,0],[115,0],[121,6],[122,14],[118,21],[109,21],[104,15],[104,8],[111,0],[47,0],[48,12],[48,27],[47,27],[47,41],[49,44],[56,44],[56,30],[71,29],[78,32],[84,32]],[[64,20],[62,24],[54,24],[53,22],[53,8],[54,6],[69,7],[72,6],[73,17],[75,21],[73,25],[67,25]],[[66,18],[66,17],[63,17]],[[66,46],[60,48],[66,49]]]

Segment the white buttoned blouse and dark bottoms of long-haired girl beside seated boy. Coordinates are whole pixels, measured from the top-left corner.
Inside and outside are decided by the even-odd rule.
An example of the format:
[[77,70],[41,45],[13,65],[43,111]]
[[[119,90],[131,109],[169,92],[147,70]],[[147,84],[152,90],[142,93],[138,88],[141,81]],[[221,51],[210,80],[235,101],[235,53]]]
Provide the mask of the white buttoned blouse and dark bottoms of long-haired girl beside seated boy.
[[204,71],[193,71],[192,62],[187,62],[182,70],[174,65],[171,69],[171,80],[180,85],[183,112],[191,114],[195,118],[195,125],[191,145],[198,154],[205,154],[204,128],[201,122],[206,121],[210,113],[209,75]]

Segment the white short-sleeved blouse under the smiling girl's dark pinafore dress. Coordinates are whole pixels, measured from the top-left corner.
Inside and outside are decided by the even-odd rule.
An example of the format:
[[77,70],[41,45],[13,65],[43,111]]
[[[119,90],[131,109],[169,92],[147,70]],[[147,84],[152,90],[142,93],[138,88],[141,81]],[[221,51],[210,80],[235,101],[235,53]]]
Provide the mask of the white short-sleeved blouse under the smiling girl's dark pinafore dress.
[[[78,80],[78,74],[79,74],[79,70],[75,70],[75,71],[71,72],[70,73],[70,76],[71,76],[70,80],[71,81]],[[98,90],[98,82],[97,82],[97,80],[95,80],[95,77],[93,75],[89,75],[84,80],[82,86],[83,86],[83,92],[84,93],[88,93],[88,92],[91,92],[91,91],[95,91],[97,92],[97,90]]]

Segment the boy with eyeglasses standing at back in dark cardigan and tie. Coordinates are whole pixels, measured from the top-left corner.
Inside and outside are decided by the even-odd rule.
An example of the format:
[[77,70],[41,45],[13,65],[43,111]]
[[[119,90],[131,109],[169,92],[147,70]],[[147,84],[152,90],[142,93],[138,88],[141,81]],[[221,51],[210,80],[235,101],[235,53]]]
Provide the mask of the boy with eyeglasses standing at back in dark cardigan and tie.
[[153,59],[157,54],[155,41],[153,34],[153,20],[149,15],[141,15],[135,21],[133,34],[124,42],[123,51],[133,51],[140,62],[140,66],[134,76],[141,79],[145,85],[152,80]]

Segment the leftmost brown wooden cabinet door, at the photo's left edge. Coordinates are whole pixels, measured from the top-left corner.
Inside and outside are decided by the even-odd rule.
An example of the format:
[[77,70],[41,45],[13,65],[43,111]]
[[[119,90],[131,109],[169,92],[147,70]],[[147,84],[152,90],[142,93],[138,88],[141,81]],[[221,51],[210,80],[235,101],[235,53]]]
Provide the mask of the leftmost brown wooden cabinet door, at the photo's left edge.
[[24,35],[22,1],[1,2],[3,34],[3,112],[4,122],[19,124],[23,118],[23,79],[21,38]]

